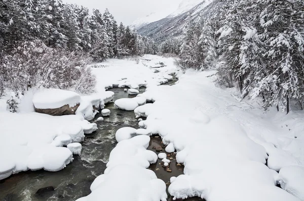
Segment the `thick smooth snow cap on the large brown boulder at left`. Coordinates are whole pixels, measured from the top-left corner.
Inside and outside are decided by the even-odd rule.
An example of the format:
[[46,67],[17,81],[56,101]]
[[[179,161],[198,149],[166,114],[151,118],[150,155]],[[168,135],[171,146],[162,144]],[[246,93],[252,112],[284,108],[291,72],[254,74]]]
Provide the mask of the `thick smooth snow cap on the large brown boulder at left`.
[[56,109],[65,105],[74,107],[80,100],[78,93],[54,88],[38,90],[33,96],[33,104],[37,109]]

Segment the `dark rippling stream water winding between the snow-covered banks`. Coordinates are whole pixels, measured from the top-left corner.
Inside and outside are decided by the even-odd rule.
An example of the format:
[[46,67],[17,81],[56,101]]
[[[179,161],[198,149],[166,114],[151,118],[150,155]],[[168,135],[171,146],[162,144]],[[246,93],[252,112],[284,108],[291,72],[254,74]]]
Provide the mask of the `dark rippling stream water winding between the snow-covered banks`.
[[[170,81],[169,85],[176,82],[176,79]],[[128,95],[124,88],[111,88],[110,91],[115,92],[114,100],[124,97],[134,97]],[[144,92],[145,88],[140,88],[140,93]],[[116,109],[113,103],[106,104],[107,109],[111,111],[109,117],[105,117],[103,122],[98,122],[98,129],[91,135],[86,135],[82,142],[82,155],[74,156],[72,163],[67,165],[61,171],[47,172],[27,171],[21,172],[11,177],[0,180],[0,200],[5,201],[74,201],[80,197],[90,194],[90,185],[94,179],[102,174],[106,168],[106,163],[111,150],[116,146],[115,133],[122,127],[138,128],[138,120],[135,118],[133,111],[123,111]],[[101,114],[96,115],[95,119]],[[161,138],[152,136],[149,150],[153,150],[154,146],[164,145],[161,143]],[[156,152],[157,153],[157,152]],[[157,174],[158,178],[162,179],[169,185],[171,176],[178,176],[183,172],[183,166],[177,165],[175,155],[168,157],[172,158],[170,164],[171,173],[168,173],[162,167],[161,160],[149,168]],[[52,186],[55,190],[45,191],[36,194],[37,190]],[[169,197],[168,200],[173,200]],[[200,198],[189,198],[186,200],[202,200]]]

